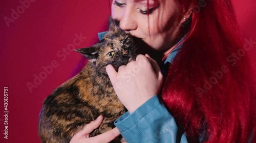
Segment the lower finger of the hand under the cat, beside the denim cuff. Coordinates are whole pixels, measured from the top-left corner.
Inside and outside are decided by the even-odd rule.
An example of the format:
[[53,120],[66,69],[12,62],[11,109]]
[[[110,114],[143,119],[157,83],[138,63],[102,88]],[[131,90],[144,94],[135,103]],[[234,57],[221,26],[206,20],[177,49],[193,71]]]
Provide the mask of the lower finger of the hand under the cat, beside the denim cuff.
[[120,135],[119,130],[115,127],[114,129],[108,131],[108,132],[104,132],[100,135],[91,137],[90,139],[92,140],[96,140],[97,138],[97,142],[110,142],[113,139],[115,139],[116,137],[118,137]]

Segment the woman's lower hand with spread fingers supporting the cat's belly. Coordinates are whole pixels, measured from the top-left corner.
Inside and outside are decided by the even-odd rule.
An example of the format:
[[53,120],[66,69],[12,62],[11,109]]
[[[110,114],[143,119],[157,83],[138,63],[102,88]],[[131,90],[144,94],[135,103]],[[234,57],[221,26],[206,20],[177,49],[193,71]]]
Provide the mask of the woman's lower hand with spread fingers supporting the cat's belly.
[[86,126],[83,127],[82,130],[77,132],[72,139],[70,140],[70,143],[87,143],[87,142],[95,142],[95,143],[107,143],[115,139],[118,135],[120,135],[120,132],[117,128],[114,128],[108,132],[102,133],[100,135],[89,137],[90,133],[98,128],[100,124],[103,121],[103,117],[99,116],[96,120],[90,122]]

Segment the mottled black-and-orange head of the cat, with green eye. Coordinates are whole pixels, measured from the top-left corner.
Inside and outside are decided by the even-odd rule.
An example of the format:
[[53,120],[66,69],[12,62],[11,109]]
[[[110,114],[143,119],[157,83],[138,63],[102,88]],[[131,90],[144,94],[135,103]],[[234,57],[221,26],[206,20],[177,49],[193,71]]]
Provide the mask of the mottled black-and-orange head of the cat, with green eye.
[[112,26],[101,41],[89,48],[75,49],[82,53],[92,63],[97,72],[105,73],[105,67],[118,67],[135,60],[135,45],[130,34],[122,31],[118,26]]

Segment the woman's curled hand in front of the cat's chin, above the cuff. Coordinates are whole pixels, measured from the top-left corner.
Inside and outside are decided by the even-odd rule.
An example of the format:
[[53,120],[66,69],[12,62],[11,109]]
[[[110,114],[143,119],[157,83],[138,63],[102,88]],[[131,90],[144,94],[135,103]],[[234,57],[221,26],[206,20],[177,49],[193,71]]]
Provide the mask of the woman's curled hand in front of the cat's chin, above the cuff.
[[118,98],[130,113],[158,94],[163,83],[157,62],[148,54],[138,55],[136,61],[120,66],[118,72],[108,65],[106,72]]

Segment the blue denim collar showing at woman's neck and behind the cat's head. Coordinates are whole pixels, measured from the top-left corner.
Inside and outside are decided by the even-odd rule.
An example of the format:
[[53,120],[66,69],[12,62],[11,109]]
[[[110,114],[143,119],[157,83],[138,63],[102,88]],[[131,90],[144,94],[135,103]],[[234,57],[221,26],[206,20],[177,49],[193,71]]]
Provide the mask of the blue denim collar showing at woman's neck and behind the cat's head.
[[[98,33],[99,40],[102,40],[106,33],[108,33],[108,31]],[[177,44],[179,45],[183,40],[184,38],[182,38]],[[170,54],[167,56],[166,60],[164,61],[164,65],[166,63],[172,64],[175,56],[180,52],[182,47],[183,47],[183,43],[180,44],[178,47],[176,47],[173,51],[171,51]]]

